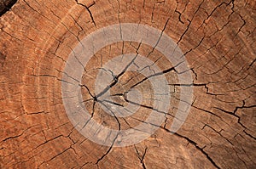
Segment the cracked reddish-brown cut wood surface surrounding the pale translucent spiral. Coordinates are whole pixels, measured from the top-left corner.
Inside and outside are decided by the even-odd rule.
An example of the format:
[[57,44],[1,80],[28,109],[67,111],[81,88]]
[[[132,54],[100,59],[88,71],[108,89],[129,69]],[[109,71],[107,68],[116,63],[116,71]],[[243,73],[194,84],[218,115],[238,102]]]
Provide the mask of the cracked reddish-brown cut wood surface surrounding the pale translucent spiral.
[[[255,1],[12,2],[0,3],[0,168],[256,168]],[[84,37],[122,23],[148,25],[160,30],[160,37],[171,37],[189,69],[178,70],[157,44],[113,42],[96,51],[83,65],[78,87],[91,118],[104,127],[126,130],[146,123],[154,110],[154,86],[140,73],[143,69],[156,65],[166,77],[162,85],[170,88],[170,108],[158,129],[137,144],[115,147],[77,130],[61,85],[67,60]],[[97,75],[122,54],[139,54],[153,64],[140,67],[147,62],[134,59],[138,71],[106,70],[113,75],[113,103],[103,104],[95,90]],[[191,83],[179,82],[183,73],[192,76]],[[186,103],[190,109],[183,126],[173,133],[179,103],[185,102],[181,87],[193,87],[193,100]],[[142,103],[129,99],[131,90],[141,93],[131,96],[142,97]],[[117,117],[102,107],[109,104],[138,109]]]

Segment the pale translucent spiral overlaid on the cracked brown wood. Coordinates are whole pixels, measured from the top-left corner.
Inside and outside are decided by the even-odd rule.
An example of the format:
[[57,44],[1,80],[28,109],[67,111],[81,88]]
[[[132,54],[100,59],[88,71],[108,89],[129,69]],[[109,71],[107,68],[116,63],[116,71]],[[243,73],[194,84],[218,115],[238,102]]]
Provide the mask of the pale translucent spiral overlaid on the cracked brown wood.
[[[116,130],[102,126],[95,121],[88,110],[86,110],[81,93],[81,79],[84,72],[84,65],[87,65],[90,58],[96,54],[101,48],[112,44],[113,42],[140,42],[151,46],[160,51],[167,59],[176,65],[177,77],[180,84],[192,84],[192,77],[189,73],[185,57],[182,51],[177,47],[177,44],[172,41],[163,31],[157,30],[148,25],[125,23],[119,25],[109,25],[99,29],[84,39],[73,48],[73,52],[67,59],[67,65],[62,76],[62,98],[67,115],[72,121],[73,126],[96,144],[107,146],[128,146],[137,144],[148,138],[160,125],[165,121],[166,112],[170,107],[170,88],[166,82],[166,76],[163,70],[153,62],[139,54],[123,54],[116,56],[102,66],[102,70],[98,73],[95,82],[95,98],[99,103],[105,102],[102,110],[106,113],[118,117],[132,115],[139,104],[127,104],[124,107],[113,105],[110,97],[109,88],[114,85],[114,75],[121,75],[127,70],[137,71],[137,67],[145,67],[145,65],[153,65],[151,70],[141,71],[143,76],[148,77],[154,89],[154,109],[146,121],[140,125],[127,130]],[[132,62],[136,63],[131,65]],[[153,74],[154,72],[154,74]],[[156,72],[156,73],[155,73]],[[181,100],[178,104],[177,113],[172,122],[170,130],[177,132],[183,125],[192,102],[193,88],[192,86],[180,86]],[[133,102],[140,103],[140,93],[134,89],[124,94],[126,101],[135,99]],[[103,104],[102,104],[103,105]],[[163,113],[160,113],[163,112]]]

